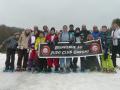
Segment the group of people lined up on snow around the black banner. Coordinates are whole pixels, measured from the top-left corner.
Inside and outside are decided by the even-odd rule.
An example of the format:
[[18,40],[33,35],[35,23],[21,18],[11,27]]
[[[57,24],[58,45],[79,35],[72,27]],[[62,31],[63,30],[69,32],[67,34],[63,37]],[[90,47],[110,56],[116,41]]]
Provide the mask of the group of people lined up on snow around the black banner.
[[[50,46],[58,42],[84,43],[90,40],[101,39],[104,59],[108,57],[108,52],[112,53],[111,59],[116,68],[116,54],[120,54],[120,19],[112,22],[112,28],[108,29],[103,25],[101,30],[93,26],[93,30],[87,30],[86,25],[75,28],[73,24],[63,26],[59,32],[47,25],[43,30],[34,26],[34,30],[25,29],[22,33],[15,33],[10,38],[3,41],[0,48],[6,47],[6,62],[4,72],[8,71],[29,71],[29,72],[55,72],[69,73],[78,71],[78,57],[74,58],[40,58],[38,56],[39,44],[48,43]],[[17,52],[17,67],[15,68],[15,53]],[[80,57],[80,71],[102,71],[101,65],[96,56]]]

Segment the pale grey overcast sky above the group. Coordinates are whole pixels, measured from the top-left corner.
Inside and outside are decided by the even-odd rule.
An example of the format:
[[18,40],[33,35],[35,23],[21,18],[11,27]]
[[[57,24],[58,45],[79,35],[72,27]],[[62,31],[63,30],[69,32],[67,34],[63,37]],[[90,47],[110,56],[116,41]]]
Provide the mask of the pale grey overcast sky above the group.
[[120,0],[0,0],[0,24],[29,28],[38,25],[111,25],[120,18]]

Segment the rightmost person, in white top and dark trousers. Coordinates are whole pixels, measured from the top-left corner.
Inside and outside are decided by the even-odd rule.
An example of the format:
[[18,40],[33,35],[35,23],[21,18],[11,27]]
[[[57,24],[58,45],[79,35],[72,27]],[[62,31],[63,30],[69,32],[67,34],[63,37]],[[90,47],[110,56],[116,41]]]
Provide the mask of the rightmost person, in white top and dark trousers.
[[112,37],[112,61],[115,68],[117,68],[116,64],[116,54],[120,55],[120,19],[114,19],[112,22],[112,27],[114,30],[111,33]]

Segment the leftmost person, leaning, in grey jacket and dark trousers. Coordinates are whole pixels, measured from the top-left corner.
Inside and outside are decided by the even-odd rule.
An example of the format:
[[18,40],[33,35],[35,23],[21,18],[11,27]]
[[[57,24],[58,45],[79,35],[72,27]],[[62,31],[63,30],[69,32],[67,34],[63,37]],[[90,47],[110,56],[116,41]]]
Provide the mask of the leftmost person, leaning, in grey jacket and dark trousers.
[[6,46],[6,61],[5,61],[5,70],[7,71],[14,71],[14,61],[15,61],[15,52],[18,45],[19,33],[15,33],[13,36],[9,37],[0,45],[0,48]]

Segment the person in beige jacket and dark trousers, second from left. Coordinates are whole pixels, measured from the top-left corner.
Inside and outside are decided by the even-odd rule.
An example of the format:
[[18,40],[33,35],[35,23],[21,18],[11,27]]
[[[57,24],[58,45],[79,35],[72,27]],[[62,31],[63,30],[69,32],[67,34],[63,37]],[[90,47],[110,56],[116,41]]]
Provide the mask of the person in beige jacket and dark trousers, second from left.
[[[26,29],[22,32],[20,35],[19,41],[18,41],[18,61],[17,61],[17,69],[16,71],[26,71],[27,68],[27,62],[28,62],[28,41],[30,38],[31,30]],[[22,65],[23,61],[23,65]]]

